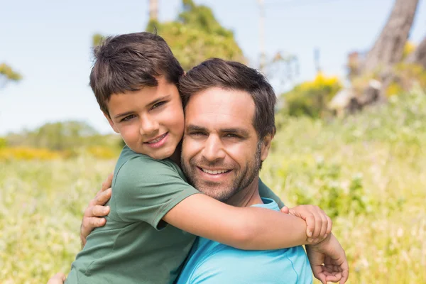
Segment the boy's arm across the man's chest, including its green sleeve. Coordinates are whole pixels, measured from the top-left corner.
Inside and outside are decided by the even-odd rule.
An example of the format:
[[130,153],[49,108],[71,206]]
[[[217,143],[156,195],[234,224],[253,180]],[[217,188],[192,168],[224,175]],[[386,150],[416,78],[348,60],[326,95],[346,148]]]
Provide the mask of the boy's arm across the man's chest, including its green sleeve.
[[127,161],[114,179],[115,218],[147,222],[157,229],[167,222],[238,249],[309,244],[302,219],[271,209],[232,207],[200,194],[179,173],[167,161],[142,157]]

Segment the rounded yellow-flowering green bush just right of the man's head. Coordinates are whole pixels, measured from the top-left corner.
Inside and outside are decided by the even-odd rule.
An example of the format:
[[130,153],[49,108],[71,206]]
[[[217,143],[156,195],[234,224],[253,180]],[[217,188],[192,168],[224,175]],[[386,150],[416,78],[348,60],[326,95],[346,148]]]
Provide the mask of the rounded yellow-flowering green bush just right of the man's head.
[[327,104],[340,89],[342,83],[337,77],[325,77],[318,73],[314,81],[303,82],[290,92],[281,94],[285,107],[280,113],[290,116],[324,117],[327,114]]

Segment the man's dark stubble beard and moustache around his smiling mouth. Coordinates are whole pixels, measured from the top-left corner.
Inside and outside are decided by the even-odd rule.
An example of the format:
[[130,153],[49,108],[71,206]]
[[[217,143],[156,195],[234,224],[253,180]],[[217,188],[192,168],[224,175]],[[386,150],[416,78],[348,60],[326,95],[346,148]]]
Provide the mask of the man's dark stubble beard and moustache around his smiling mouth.
[[[262,142],[259,141],[256,147],[256,154],[249,163],[246,163],[246,168],[241,171],[234,180],[231,185],[220,185],[217,182],[207,182],[202,181],[198,178],[195,178],[195,173],[193,173],[193,169],[191,167],[191,162],[193,160],[190,159],[189,163],[183,158],[182,155],[182,171],[185,173],[188,182],[190,185],[195,187],[197,190],[202,192],[204,195],[214,198],[215,200],[219,200],[222,202],[226,202],[232,196],[236,195],[241,190],[244,190],[246,187],[251,185],[251,182],[255,178],[258,177],[259,171],[261,170],[262,161],[261,161],[261,148]],[[182,152],[183,153],[183,152]],[[226,165],[222,162],[208,162],[207,160],[201,160],[202,163],[197,163],[198,165],[204,165],[209,167],[217,167],[217,168],[226,168]],[[197,169],[195,169],[197,170]]]

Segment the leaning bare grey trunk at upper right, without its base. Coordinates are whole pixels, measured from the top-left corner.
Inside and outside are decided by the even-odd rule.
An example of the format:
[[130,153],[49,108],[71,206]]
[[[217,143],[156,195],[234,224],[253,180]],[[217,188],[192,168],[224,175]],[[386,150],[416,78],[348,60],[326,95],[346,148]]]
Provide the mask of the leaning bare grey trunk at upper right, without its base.
[[400,62],[418,2],[419,0],[395,0],[386,26],[366,56],[364,72],[371,72],[377,67],[386,70]]

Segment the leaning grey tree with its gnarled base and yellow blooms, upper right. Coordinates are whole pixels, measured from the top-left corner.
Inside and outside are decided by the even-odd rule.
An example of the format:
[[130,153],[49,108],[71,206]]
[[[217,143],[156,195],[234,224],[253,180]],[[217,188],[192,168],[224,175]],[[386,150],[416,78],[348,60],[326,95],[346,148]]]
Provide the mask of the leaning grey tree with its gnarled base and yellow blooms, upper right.
[[[400,81],[397,69],[399,63],[404,60],[404,50],[418,2],[419,0],[395,0],[386,25],[366,58],[361,58],[360,53],[356,52],[349,54],[351,87],[343,89],[337,94],[336,99],[332,100],[332,102],[339,101],[339,104],[333,107],[335,111],[342,113],[346,109],[352,112],[362,109],[367,104],[386,101],[388,89]],[[421,51],[422,48],[418,50]],[[420,56],[422,53],[418,53],[417,50],[416,53],[419,59],[422,58]],[[415,73],[419,72],[416,70]]]

